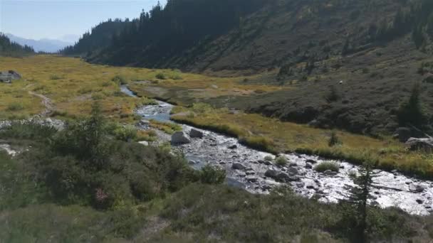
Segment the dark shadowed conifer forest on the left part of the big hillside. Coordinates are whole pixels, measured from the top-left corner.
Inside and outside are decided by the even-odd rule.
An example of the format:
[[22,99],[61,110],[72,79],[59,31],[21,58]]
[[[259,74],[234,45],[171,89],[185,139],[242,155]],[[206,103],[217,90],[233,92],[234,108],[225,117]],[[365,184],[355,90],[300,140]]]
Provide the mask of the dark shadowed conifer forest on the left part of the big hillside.
[[[236,28],[243,16],[263,4],[261,0],[170,0],[166,6],[158,3],[149,12],[143,11],[139,18],[122,26],[118,34],[111,31],[110,44],[106,48],[98,45],[103,50],[88,53],[87,58],[112,65],[157,66],[165,58],[189,55],[184,53],[188,48],[207,43]],[[78,46],[85,45],[84,41],[85,38],[71,50],[75,52]]]

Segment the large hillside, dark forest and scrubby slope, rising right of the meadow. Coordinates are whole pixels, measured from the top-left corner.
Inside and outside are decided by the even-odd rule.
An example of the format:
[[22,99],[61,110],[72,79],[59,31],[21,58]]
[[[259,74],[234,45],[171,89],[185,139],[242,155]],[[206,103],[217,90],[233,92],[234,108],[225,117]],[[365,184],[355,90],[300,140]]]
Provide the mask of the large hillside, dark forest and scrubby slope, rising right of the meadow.
[[423,126],[433,114],[432,12],[428,0],[172,0],[143,12],[86,58],[259,74],[244,83],[291,88],[209,102],[320,127],[393,132],[414,82],[422,82]]

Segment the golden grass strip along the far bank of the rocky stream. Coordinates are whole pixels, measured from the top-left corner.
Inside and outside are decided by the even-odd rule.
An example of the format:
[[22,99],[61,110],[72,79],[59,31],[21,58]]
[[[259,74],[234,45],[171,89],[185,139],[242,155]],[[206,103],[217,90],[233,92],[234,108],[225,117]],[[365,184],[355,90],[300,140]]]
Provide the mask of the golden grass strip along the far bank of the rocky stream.
[[379,168],[398,169],[433,178],[432,156],[407,151],[403,144],[390,138],[374,139],[337,131],[343,144],[330,147],[330,130],[283,122],[259,114],[229,114],[224,109],[202,113],[188,113],[185,109],[175,109],[175,112],[182,114],[174,114],[174,120],[237,136],[250,146],[273,153],[296,151],[328,158],[342,158],[353,163],[373,161],[377,162]]

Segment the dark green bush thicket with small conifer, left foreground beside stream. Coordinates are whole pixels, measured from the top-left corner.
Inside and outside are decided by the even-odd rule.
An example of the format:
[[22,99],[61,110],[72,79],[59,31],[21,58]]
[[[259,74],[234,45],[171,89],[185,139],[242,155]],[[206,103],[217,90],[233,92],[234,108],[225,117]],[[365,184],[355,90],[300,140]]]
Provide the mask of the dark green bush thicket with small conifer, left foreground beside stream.
[[[161,197],[198,180],[183,158],[159,148],[110,139],[110,128],[113,126],[108,126],[95,104],[90,117],[70,122],[62,131],[33,123],[12,124],[1,130],[2,138],[27,140],[32,149],[22,153],[18,167],[11,167],[7,161],[2,163],[11,173],[0,173],[0,180],[12,179],[14,184],[2,183],[11,188],[5,190],[10,199],[0,205],[12,201],[26,205],[38,200],[33,194],[39,188],[46,188],[52,198],[45,200],[64,205],[125,207],[135,201]],[[30,189],[28,199],[20,199],[19,195]]]

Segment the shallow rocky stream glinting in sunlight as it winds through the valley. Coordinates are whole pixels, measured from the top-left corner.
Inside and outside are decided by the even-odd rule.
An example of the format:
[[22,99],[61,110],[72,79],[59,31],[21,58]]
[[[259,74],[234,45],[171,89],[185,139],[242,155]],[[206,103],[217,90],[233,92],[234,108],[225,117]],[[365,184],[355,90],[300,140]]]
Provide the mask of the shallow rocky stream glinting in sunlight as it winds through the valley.
[[[121,87],[122,92],[132,97],[134,93]],[[156,105],[147,105],[136,110],[136,113],[145,120],[156,119],[170,121],[169,113],[172,105],[158,102]],[[182,125],[185,133],[189,134],[192,126]],[[150,129],[146,125],[140,125],[142,129]],[[230,185],[244,188],[251,193],[268,193],[275,185],[281,185],[272,178],[265,176],[266,171],[296,175],[296,180],[289,182],[293,190],[308,198],[318,198],[320,202],[338,202],[348,198],[348,189],[353,186],[350,179],[351,173],[357,173],[359,166],[345,161],[335,161],[340,164],[340,171],[336,174],[318,173],[311,168],[314,164],[325,160],[318,156],[288,153],[286,156],[288,166],[282,168],[266,162],[265,156],[270,153],[257,151],[239,144],[238,139],[217,134],[213,131],[202,131],[202,139],[192,139],[191,143],[174,146],[173,149],[182,151],[189,164],[194,168],[211,163],[226,169],[227,182]],[[169,141],[170,136],[160,134],[160,140]],[[400,207],[413,215],[429,215],[433,212],[433,182],[418,180],[400,173],[375,170],[373,178],[373,199],[371,204],[380,207]]]

